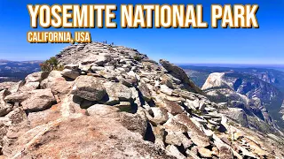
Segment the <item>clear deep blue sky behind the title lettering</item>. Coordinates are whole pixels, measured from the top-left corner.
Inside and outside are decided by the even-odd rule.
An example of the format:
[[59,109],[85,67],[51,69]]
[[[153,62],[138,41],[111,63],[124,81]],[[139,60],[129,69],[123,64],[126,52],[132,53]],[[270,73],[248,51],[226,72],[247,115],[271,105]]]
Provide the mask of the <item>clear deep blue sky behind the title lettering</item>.
[[[114,42],[138,49],[154,60],[176,64],[284,64],[284,0],[121,0],[121,4],[202,4],[210,24],[211,4],[259,4],[258,29],[77,29],[91,32],[93,41]],[[27,4],[117,4],[117,1],[23,0],[0,1],[0,59],[43,60],[68,44],[31,44]],[[120,4],[117,4],[119,8]],[[116,13],[119,18],[119,12]],[[118,20],[118,19],[117,19]],[[50,29],[56,30],[54,28]],[[69,29],[65,29],[69,31]],[[71,29],[74,32],[75,29]]]

